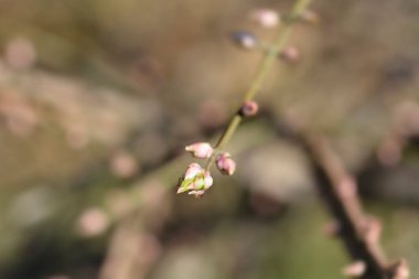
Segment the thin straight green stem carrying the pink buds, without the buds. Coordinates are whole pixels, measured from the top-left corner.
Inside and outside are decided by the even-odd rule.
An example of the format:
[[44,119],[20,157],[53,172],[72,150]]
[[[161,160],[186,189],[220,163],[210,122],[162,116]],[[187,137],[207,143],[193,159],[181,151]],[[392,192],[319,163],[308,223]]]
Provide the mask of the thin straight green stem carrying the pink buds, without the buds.
[[[278,58],[278,54],[282,52],[286,42],[291,33],[294,19],[298,19],[299,15],[307,9],[311,0],[297,0],[294,7],[292,8],[290,17],[284,20],[283,26],[280,29],[276,39],[273,40],[272,46],[266,52],[264,60],[261,61],[258,71],[249,86],[249,89],[246,92],[244,101],[253,100],[257,93],[260,92],[260,88],[264,85],[264,82],[271,69],[273,63]],[[215,149],[223,149],[233,137],[237,127],[240,125],[243,116],[237,112],[233,116],[232,120],[228,122],[227,127],[223,131],[218,142],[215,144]],[[213,154],[206,165],[205,170],[208,171],[215,161],[215,154]]]

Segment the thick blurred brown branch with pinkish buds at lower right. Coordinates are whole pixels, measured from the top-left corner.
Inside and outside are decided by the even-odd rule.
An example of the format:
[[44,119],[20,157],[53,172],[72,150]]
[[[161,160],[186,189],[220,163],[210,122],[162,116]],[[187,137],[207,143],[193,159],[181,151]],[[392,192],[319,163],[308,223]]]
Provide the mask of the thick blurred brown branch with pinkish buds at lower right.
[[[363,262],[361,279],[407,279],[405,260],[390,264],[379,244],[380,223],[366,214],[357,195],[355,179],[345,170],[327,139],[321,135],[293,131],[290,126],[276,125],[281,136],[299,142],[310,159],[318,189],[336,221],[336,235],[354,260]],[[355,276],[355,275],[354,275]]]

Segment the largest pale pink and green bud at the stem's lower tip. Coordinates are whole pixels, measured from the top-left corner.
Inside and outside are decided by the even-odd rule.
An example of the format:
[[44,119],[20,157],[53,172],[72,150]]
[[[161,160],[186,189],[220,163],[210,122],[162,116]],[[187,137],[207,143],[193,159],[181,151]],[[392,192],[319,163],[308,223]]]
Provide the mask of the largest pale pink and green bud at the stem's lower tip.
[[184,176],[180,179],[178,194],[189,192],[190,195],[201,197],[213,185],[213,178],[208,171],[197,163],[191,163]]

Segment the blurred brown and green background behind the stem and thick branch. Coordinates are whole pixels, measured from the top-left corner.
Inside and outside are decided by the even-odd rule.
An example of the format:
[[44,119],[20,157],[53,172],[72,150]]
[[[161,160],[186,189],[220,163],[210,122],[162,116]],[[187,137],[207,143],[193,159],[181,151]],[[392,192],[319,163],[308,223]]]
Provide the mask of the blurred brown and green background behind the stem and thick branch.
[[228,146],[234,176],[175,195],[215,142],[261,54],[228,34],[273,30],[290,0],[1,0],[0,278],[344,278],[327,212],[286,119],[320,131],[419,271],[419,2],[314,0]]

